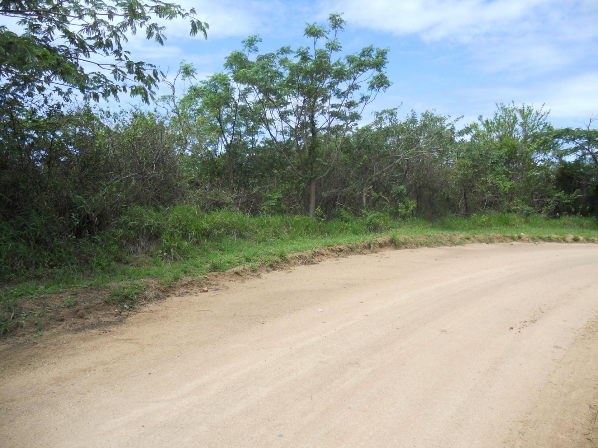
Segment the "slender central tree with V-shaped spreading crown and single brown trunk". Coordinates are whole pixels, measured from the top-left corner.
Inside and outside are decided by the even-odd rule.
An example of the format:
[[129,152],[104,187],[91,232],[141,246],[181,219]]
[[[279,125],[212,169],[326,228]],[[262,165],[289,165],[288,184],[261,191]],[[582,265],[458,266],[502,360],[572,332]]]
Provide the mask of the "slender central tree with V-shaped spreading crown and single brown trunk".
[[365,47],[334,60],[341,51],[337,36],[345,23],[339,14],[331,14],[329,27],[306,27],[312,47],[282,47],[258,54],[255,60],[250,56],[258,53],[261,39],[252,36],[243,41],[244,51],[234,51],[225,63],[266,136],[309,185],[312,217],[316,181],[334,167],[347,132],[365,107],[390,85],[384,72],[388,48]]

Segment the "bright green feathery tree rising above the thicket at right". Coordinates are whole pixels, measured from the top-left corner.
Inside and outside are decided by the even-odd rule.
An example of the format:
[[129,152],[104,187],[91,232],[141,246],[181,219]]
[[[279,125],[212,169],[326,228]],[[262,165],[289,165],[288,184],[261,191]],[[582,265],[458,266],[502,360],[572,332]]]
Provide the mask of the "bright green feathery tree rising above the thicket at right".
[[542,211],[546,171],[556,149],[548,111],[500,103],[491,118],[465,127],[469,138],[457,157],[460,208]]

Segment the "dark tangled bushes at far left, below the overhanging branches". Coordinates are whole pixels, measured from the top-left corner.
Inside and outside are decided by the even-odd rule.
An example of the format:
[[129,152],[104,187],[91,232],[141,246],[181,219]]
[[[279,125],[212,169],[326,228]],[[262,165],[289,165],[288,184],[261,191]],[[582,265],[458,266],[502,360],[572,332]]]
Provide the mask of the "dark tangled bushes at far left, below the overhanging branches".
[[[52,119],[57,127],[48,136],[51,151],[45,151],[45,141],[30,139],[21,144],[19,157],[9,151],[0,159],[0,277],[10,278],[27,265],[77,265],[72,261],[81,257],[105,271],[118,245],[97,252],[93,239],[111,227],[115,240],[131,240],[135,232],[128,225],[138,225],[132,205],[167,205],[185,196],[203,200],[188,194],[172,136],[152,113],[93,115],[81,109],[45,124]],[[124,208],[132,222],[121,220]],[[152,225],[149,218],[144,226]],[[164,251],[182,251],[166,237],[163,243]],[[51,256],[41,255],[44,251]]]

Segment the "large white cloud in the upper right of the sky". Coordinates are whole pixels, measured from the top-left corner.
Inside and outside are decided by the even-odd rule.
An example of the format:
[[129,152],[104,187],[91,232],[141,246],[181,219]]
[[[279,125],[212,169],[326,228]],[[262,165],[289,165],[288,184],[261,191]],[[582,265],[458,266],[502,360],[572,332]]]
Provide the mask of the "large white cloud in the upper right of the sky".
[[598,54],[596,0],[328,0],[349,24],[463,47],[484,72],[542,72]]

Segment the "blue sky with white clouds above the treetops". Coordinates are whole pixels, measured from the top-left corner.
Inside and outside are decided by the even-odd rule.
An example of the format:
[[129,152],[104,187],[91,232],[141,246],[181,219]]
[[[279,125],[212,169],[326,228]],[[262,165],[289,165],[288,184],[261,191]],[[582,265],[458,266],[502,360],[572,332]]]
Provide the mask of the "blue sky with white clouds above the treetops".
[[[222,70],[227,54],[248,35],[260,51],[305,45],[306,22],[344,12],[343,50],[389,47],[392,87],[370,111],[402,103],[464,122],[490,115],[497,102],[550,109],[554,125],[578,127],[598,115],[598,0],[322,0],[195,1],[209,23],[208,40],[188,35],[183,22],[167,22],[164,47],[132,36],[133,57],[170,73],[182,59],[202,78]],[[166,93],[166,91],[165,91]],[[123,99],[124,100],[124,99]],[[125,100],[128,101],[128,100]],[[133,101],[134,102],[134,101]],[[369,115],[369,114],[368,114]],[[367,116],[364,117],[367,119]]]

